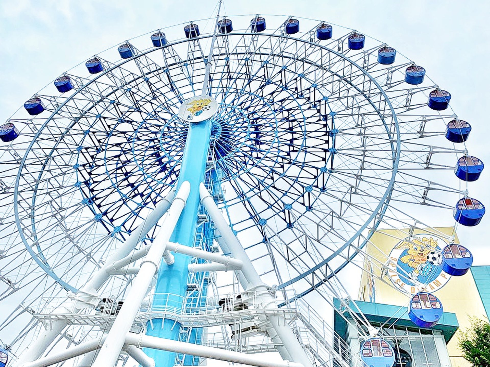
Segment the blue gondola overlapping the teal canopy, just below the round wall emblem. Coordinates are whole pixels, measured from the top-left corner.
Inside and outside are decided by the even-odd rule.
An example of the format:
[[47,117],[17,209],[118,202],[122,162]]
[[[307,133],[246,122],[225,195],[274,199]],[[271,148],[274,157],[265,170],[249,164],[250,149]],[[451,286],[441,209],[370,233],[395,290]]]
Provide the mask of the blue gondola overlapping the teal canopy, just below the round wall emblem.
[[418,327],[432,327],[442,316],[442,303],[436,296],[419,292],[410,300],[408,316]]

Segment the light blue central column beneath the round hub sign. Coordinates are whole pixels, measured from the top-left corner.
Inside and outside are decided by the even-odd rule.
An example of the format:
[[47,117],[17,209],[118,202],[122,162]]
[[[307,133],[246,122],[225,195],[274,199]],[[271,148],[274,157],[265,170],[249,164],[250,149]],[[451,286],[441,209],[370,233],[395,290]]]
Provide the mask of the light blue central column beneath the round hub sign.
[[[191,191],[186,206],[177,222],[171,241],[185,246],[194,246],[196,235],[197,208],[200,203],[199,184],[203,182],[211,138],[212,119],[190,123],[182,165],[180,167],[177,190],[184,181],[189,181]],[[158,271],[155,297],[152,309],[175,307],[180,309],[187,293],[187,265],[191,257],[175,253],[175,262],[167,265],[163,260]],[[153,327],[152,327],[153,326]],[[178,340],[180,323],[173,320],[153,319],[147,324],[147,335]],[[156,367],[172,367],[175,364],[173,352],[145,349],[155,360]]]

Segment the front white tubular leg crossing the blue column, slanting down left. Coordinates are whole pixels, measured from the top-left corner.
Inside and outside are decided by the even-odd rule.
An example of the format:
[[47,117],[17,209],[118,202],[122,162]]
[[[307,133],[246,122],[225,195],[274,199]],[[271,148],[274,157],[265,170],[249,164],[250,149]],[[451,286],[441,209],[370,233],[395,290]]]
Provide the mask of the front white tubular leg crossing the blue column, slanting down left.
[[141,302],[146,295],[153,275],[158,271],[163,252],[169,242],[173,229],[182,213],[191,185],[184,181],[173,199],[167,217],[141,264],[140,271],[134,278],[126,301],[123,303],[116,320],[114,321],[107,338],[102,345],[93,367],[115,366],[119,353],[123,348],[124,337],[129,332],[134,318],[140,309]]

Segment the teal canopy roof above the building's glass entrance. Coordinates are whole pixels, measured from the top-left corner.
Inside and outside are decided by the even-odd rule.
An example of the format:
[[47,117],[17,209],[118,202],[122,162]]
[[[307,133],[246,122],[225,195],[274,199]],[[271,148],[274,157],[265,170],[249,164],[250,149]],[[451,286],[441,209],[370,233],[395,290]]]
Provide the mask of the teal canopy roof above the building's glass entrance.
[[[370,322],[387,323],[388,325],[394,324],[399,326],[417,327],[408,317],[407,307],[364,301],[355,302],[356,303],[354,304],[351,301],[349,303],[349,308],[357,314],[360,314],[360,311],[362,311],[362,313]],[[339,312],[345,311],[345,308],[341,308],[341,303],[338,298],[334,298],[334,306],[336,308],[334,317],[334,329],[341,337],[344,338],[346,336],[346,325],[343,318],[339,315]],[[346,318],[350,318],[348,314],[345,314],[344,316]],[[431,329],[441,331],[447,343],[453,337],[458,328],[459,323],[458,319],[456,318],[456,314],[452,312],[443,312],[441,320],[437,323],[436,326],[433,326]]]

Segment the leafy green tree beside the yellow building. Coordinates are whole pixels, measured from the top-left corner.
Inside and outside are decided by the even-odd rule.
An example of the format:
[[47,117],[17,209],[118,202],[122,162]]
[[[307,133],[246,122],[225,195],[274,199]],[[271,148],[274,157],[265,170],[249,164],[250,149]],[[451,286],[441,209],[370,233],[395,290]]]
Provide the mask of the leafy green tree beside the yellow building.
[[460,334],[458,346],[473,366],[490,367],[490,323],[476,317],[470,321],[471,327]]

